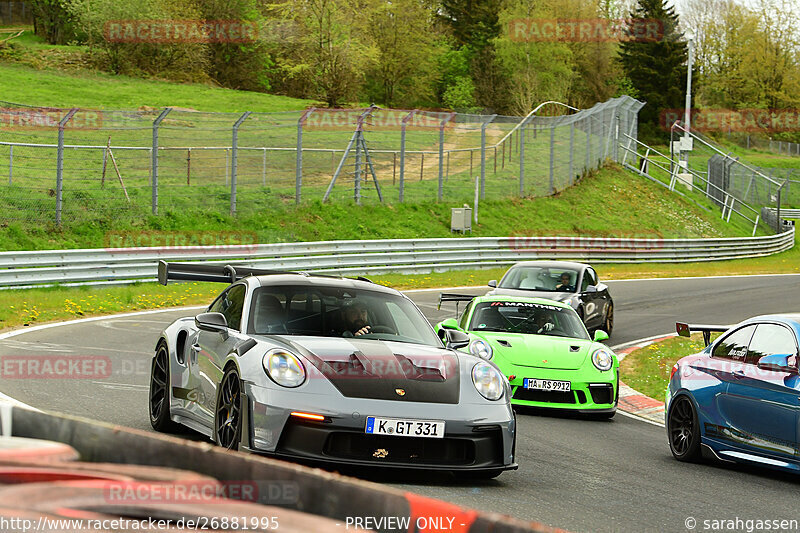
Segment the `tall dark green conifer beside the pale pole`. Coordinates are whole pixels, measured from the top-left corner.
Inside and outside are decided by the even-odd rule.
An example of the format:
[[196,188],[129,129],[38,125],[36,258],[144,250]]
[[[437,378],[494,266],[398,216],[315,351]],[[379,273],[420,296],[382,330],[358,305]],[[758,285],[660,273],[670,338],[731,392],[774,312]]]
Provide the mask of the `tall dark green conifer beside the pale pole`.
[[654,135],[662,112],[684,107],[687,45],[678,15],[666,0],[639,0],[630,18],[644,24],[657,20],[663,27],[660,39],[625,41],[619,52],[625,77],[647,103],[639,112],[641,132]]

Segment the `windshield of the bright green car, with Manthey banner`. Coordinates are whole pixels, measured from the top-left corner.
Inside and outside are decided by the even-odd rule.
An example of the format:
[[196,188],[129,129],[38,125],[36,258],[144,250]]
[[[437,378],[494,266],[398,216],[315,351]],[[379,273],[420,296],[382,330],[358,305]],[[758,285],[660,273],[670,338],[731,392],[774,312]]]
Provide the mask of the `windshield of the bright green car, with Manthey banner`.
[[571,308],[531,302],[482,302],[472,312],[471,331],[502,331],[588,339],[589,334]]

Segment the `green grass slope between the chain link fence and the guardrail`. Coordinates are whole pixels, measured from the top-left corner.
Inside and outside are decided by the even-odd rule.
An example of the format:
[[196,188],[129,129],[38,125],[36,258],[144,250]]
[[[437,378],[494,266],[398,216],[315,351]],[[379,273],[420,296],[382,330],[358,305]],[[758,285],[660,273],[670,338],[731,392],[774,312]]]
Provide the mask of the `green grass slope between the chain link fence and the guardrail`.
[[[210,235],[235,229],[254,235],[260,243],[450,237],[451,207],[444,202],[360,207],[315,202],[236,218],[186,211],[148,216],[135,223],[109,217],[62,230],[17,223],[0,233],[0,249],[102,248],[108,245],[110,234],[180,234],[187,229]],[[555,196],[481,202],[479,223],[474,225],[471,236],[733,237],[748,235],[749,231],[612,166],[586,176],[578,185]]]

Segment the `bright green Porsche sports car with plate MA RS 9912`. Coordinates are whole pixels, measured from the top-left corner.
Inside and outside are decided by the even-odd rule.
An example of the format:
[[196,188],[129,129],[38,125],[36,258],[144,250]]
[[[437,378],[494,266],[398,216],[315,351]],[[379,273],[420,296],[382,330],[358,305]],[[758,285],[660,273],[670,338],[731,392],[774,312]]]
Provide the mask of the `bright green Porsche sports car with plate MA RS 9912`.
[[569,409],[596,418],[617,410],[619,361],[601,344],[601,330],[589,337],[568,304],[519,296],[442,294],[444,301],[469,301],[461,318],[436,325],[468,333],[463,348],[491,360],[511,384],[511,403],[528,407]]

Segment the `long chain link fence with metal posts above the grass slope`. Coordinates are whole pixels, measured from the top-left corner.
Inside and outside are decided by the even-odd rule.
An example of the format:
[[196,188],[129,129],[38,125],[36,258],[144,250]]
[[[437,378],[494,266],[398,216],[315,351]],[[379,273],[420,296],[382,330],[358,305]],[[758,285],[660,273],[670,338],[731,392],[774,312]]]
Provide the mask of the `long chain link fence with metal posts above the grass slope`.
[[637,136],[624,96],[572,114],[419,110],[206,113],[0,102],[0,223],[91,223],[302,202],[545,196]]

